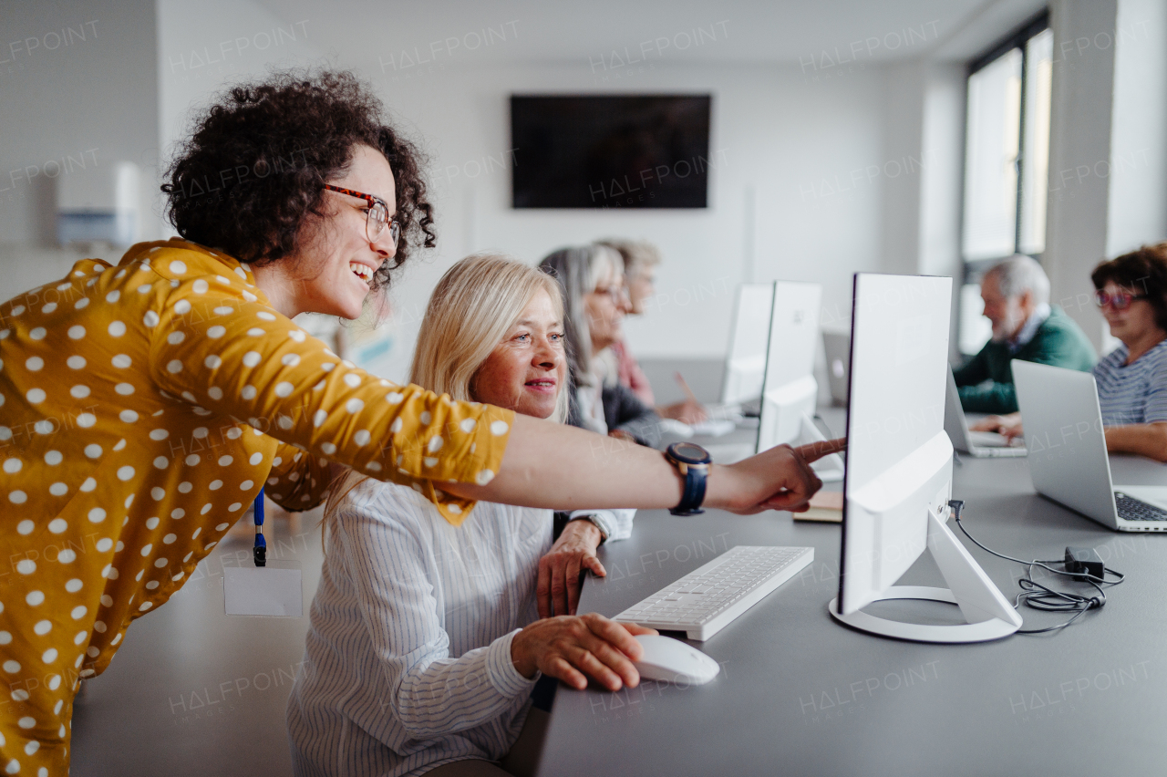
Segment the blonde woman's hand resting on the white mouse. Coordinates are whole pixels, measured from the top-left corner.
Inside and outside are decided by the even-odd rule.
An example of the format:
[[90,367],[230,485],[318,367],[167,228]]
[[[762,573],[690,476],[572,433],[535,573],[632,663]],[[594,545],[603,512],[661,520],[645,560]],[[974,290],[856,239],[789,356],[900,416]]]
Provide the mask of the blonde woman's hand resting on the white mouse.
[[524,628],[511,640],[511,660],[525,678],[537,671],[582,691],[594,678],[608,691],[635,688],[641,676],[633,666],[644,654],[633,637],[657,634],[635,623],[616,623],[602,615],[560,615]]

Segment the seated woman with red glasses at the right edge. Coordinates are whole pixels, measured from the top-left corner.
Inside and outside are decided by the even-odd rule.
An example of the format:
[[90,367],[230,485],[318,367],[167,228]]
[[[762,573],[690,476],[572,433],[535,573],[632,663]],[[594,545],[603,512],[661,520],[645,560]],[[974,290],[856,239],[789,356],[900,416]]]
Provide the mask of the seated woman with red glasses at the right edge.
[[[1167,462],[1167,243],[1104,261],[1090,280],[1121,342],[1093,369],[1106,449]],[[1022,434],[1019,413],[993,422],[1008,438]]]

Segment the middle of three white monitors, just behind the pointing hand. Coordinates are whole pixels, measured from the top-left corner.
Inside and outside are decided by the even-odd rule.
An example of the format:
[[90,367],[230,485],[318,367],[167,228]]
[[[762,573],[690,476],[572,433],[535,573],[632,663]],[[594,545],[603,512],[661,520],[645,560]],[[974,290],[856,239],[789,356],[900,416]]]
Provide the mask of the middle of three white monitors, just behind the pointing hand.
[[[818,401],[815,349],[818,346],[822,300],[823,287],[818,284],[774,284],[757,452],[782,443],[803,444],[825,440],[815,426],[815,405]],[[826,456],[815,462],[815,470],[824,481],[843,480],[843,459]]]

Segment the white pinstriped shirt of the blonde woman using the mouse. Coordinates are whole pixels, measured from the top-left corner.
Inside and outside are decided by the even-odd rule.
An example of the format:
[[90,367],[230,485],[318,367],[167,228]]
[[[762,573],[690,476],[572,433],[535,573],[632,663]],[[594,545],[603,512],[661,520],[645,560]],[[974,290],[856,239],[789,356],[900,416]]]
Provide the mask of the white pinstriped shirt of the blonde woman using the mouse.
[[288,699],[295,774],[397,777],[505,755],[534,685],[511,639],[538,618],[551,545],[550,510],[478,502],[452,526],[404,485],[344,496]]

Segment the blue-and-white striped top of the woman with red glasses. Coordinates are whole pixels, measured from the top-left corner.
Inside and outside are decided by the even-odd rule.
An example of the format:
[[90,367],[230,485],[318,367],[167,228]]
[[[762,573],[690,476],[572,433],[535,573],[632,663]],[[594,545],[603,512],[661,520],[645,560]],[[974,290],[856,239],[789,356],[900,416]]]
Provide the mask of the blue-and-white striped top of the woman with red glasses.
[[1119,345],[1093,369],[1105,426],[1167,421],[1167,340],[1126,364]]

